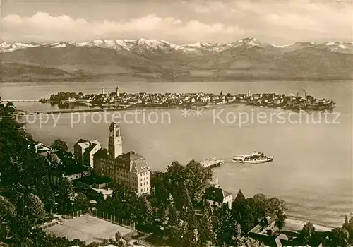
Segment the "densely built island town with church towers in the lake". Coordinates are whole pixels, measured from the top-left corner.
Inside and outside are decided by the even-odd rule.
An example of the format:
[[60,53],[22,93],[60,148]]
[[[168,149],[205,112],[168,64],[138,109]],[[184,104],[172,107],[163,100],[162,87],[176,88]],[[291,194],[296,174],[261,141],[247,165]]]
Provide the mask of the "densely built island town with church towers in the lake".
[[231,94],[220,92],[213,93],[126,93],[120,92],[116,87],[115,92],[84,95],[82,92],[58,92],[49,99],[42,99],[42,103],[58,105],[61,109],[74,108],[75,106],[100,107],[102,109],[131,109],[146,107],[213,107],[220,104],[248,104],[261,107],[280,107],[281,109],[299,110],[330,110],[335,107],[335,102],[326,99],[316,99],[306,92],[302,95],[275,94],[275,93],[247,93]]

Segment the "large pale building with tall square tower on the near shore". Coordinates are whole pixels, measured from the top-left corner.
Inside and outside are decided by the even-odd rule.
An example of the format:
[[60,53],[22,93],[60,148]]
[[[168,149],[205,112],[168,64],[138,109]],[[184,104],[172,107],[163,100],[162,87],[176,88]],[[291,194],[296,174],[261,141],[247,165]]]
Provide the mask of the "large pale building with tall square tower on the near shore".
[[150,193],[150,166],[142,155],[134,151],[123,153],[121,127],[118,123],[109,126],[108,149],[100,148],[93,155],[93,160],[96,175],[109,176],[138,195]]

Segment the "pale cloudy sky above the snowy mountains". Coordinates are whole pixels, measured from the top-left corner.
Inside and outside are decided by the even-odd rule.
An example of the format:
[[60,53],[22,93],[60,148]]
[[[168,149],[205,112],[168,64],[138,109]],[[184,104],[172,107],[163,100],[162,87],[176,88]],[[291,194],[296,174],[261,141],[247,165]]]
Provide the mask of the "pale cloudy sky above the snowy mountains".
[[[1,0],[0,0],[1,1]],[[353,0],[2,0],[2,42],[352,42]]]

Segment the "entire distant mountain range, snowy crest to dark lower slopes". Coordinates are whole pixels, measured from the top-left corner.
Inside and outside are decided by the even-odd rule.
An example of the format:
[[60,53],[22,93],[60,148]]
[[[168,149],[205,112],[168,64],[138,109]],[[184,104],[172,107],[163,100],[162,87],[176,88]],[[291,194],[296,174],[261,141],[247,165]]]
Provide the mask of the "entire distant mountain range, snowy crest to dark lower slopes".
[[0,59],[2,81],[353,79],[353,42],[16,42],[0,44]]

